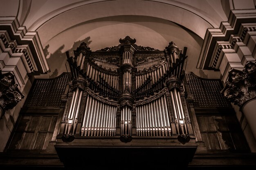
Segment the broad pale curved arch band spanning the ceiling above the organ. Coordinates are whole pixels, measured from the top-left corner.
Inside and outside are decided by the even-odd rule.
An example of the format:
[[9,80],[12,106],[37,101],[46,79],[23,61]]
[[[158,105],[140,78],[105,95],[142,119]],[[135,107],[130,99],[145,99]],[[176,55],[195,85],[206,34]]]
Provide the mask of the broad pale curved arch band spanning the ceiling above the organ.
[[166,5],[166,3],[155,1],[135,1],[131,3],[131,1],[124,0],[101,1],[78,7],[70,5],[65,9],[60,8],[39,18],[29,26],[29,30],[36,30],[44,36],[47,35],[48,38],[46,38],[49,40],[49,38],[71,25],[79,25],[79,23],[88,20],[117,15],[152,16],[169,20],[186,27],[201,38],[204,38],[207,28],[213,27],[199,13],[172,4]]

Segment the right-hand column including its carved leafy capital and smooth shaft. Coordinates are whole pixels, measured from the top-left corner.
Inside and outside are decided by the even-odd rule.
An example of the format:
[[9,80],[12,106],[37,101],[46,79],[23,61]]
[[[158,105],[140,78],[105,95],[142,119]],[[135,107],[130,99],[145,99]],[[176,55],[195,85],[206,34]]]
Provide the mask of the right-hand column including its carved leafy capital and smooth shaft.
[[247,62],[242,71],[231,69],[222,94],[240,107],[256,139],[256,62]]

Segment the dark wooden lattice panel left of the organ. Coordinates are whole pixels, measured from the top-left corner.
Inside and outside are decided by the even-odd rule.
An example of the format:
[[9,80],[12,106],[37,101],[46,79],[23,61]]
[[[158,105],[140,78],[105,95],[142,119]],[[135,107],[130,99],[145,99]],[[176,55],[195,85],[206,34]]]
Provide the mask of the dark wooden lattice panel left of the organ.
[[69,74],[65,73],[54,79],[35,79],[29,92],[26,106],[60,106],[61,95],[65,92],[68,78]]

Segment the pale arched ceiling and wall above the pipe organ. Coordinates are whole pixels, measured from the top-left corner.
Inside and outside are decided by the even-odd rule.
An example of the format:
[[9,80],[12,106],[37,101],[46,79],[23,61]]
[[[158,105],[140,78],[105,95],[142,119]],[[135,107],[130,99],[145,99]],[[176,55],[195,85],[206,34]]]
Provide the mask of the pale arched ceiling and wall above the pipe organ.
[[72,54],[81,42],[95,51],[118,45],[125,36],[159,50],[171,41],[180,49],[188,47],[186,71],[218,78],[218,72],[195,67],[207,28],[227,21],[223,4],[227,6],[222,0],[20,0],[13,15],[28,31],[38,32],[51,69],[42,78],[67,71],[65,51]]

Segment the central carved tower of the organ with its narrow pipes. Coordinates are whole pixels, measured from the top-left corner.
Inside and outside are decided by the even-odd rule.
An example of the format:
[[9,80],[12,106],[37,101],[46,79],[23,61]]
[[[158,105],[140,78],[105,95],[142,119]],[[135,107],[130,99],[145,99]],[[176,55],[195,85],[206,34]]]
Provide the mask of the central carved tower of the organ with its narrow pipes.
[[[134,59],[134,51],[135,48],[133,45],[136,40],[131,39],[129,36],[126,36],[124,39],[120,39],[121,43],[121,58],[120,65],[122,71],[122,78],[120,78],[119,83],[122,84],[121,96],[119,97],[120,111],[121,111],[121,119],[120,119],[120,134],[121,141],[127,142],[132,138],[132,134],[136,134],[136,123],[132,123],[132,120],[136,120],[136,114],[132,112],[134,97],[132,93],[135,89],[135,59]],[[135,106],[134,106],[135,107]]]

